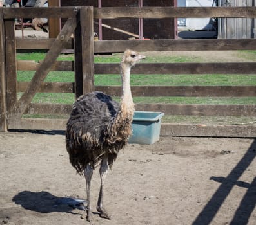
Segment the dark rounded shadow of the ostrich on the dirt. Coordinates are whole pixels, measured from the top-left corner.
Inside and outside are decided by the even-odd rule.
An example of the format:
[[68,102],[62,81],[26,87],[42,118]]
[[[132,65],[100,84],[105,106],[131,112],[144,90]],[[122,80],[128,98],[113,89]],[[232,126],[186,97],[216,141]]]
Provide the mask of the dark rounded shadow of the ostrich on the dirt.
[[[66,212],[74,213],[72,210],[85,210],[86,200],[74,197],[57,197],[49,192],[23,191],[12,198],[15,204],[21,205],[26,210],[39,213]],[[82,213],[82,212],[81,212]]]

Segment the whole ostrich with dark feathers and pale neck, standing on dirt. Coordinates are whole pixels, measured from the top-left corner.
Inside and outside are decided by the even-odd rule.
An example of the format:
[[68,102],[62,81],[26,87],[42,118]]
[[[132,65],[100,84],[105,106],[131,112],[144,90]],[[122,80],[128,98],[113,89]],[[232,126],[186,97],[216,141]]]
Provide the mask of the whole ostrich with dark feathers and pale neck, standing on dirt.
[[86,179],[87,221],[92,221],[91,179],[94,168],[99,164],[101,187],[97,211],[101,217],[110,219],[103,207],[104,181],[119,150],[124,148],[132,133],[134,104],[130,89],[130,69],[143,58],[146,57],[132,50],[124,52],[120,65],[123,87],[120,104],[102,92],[88,93],[77,99],[66,125],[66,149],[70,163]]

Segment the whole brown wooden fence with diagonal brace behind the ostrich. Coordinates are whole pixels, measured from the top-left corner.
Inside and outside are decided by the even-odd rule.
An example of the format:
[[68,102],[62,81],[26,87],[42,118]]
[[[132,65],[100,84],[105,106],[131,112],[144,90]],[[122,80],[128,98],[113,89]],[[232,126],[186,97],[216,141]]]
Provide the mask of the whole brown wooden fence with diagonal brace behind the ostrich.
[[[15,39],[14,17],[70,18],[57,39]],[[1,64],[1,123],[7,129],[65,129],[66,120],[22,118],[28,111],[35,114],[69,114],[71,105],[31,104],[37,92],[75,93],[104,91],[120,96],[121,87],[94,86],[94,74],[119,73],[119,64],[94,64],[94,53],[136,51],[228,51],[256,50],[256,39],[191,39],[191,40],[104,40],[94,42],[93,19],[119,17],[256,17],[255,7],[228,8],[0,8],[0,64]],[[70,34],[74,33],[74,41]],[[55,61],[63,49],[73,49],[74,62]],[[16,61],[20,49],[49,49],[43,62]],[[17,70],[36,71],[31,82],[17,82]],[[74,83],[47,83],[44,78],[52,71],[74,71]],[[164,63],[138,64],[136,74],[256,74],[255,62],[236,63]],[[5,84],[6,83],[6,84]],[[17,100],[17,92],[23,96]],[[133,96],[256,96],[255,86],[133,86]],[[256,105],[201,105],[201,104],[136,104],[136,110],[162,111],[166,115],[193,116],[255,116]],[[192,125],[162,124],[164,136],[239,136],[255,137],[255,125]]]

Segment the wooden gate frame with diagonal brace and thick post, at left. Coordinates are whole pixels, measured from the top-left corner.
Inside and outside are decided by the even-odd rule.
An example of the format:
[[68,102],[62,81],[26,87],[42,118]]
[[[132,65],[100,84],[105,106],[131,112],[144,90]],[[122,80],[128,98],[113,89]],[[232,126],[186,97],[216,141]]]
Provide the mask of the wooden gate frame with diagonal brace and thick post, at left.
[[[15,18],[23,17],[61,17],[68,18],[56,39],[35,71],[23,95],[17,100],[17,64]],[[22,116],[31,104],[32,98],[45,87],[44,79],[55,64],[55,60],[72,43],[75,51],[75,85],[72,87],[76,96],[93,91],[94,44],[93,44],[93,8],[0,8],[1,29],[1,129],[46,129],[45,120],[26,120]],[[4,38],[5,37],[5,38]],[[53,87],[57,88],[57,86]],[[6,120],[7,119],[7,120]],[[54,120],[52,120],[53,123]],[[56,128],[59,122],[54,123]]]

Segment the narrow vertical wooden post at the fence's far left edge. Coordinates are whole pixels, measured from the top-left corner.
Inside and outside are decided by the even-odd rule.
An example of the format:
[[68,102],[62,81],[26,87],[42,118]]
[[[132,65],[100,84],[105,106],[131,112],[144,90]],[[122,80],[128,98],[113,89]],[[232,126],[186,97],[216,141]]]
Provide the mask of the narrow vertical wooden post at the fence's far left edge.
[[6,118],[5,27],[0,8],[0,132],[7,131]]

